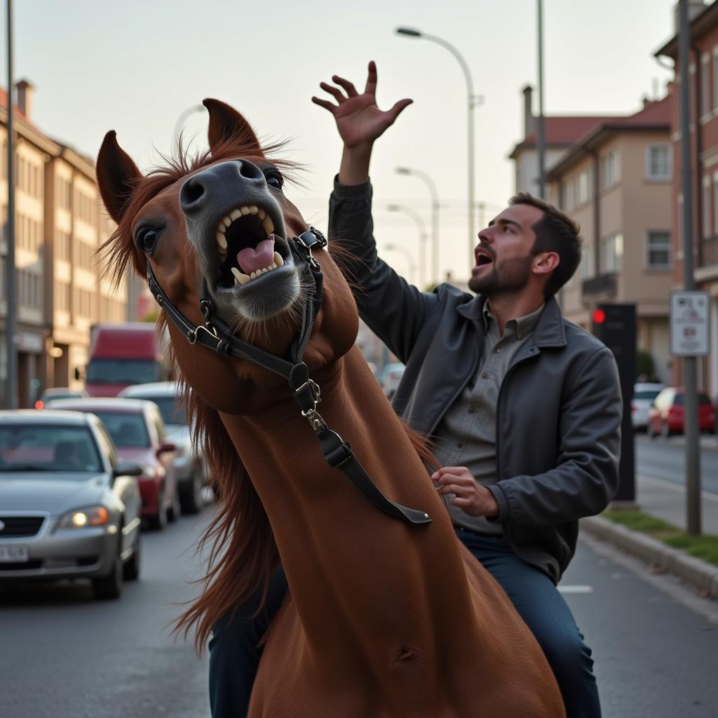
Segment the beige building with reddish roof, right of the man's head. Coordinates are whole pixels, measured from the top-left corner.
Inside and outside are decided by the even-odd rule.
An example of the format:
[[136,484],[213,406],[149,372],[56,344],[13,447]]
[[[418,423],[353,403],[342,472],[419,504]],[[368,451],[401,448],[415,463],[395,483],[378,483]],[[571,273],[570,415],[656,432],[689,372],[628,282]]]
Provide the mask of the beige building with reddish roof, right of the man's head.
[[668,296],[672,286],[670,101],[595,123],[546,173],[548,200],[581,225],[579,271],[561,291],[567,319],[590,327],[600,302],[631,302],[637,345],[671,378]]

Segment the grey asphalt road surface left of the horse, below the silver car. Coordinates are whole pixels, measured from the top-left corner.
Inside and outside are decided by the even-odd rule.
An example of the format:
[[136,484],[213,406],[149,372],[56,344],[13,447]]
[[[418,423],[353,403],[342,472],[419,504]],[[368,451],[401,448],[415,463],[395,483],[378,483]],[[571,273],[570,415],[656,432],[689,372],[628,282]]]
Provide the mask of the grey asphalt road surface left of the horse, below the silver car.
[[141,579],[119,600],[95,602],[89,582],[0,589],[0,716],[208,718],[206,658],[168,624],[210,513],[143,533]]

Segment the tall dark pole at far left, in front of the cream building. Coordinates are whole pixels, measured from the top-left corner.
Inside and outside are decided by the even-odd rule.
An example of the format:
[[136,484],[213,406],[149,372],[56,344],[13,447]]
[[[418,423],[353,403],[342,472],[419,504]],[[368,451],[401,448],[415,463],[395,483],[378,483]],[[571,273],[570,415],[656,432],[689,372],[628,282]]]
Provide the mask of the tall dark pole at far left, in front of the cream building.
[[7,230],[5,234],[5,348],[6,380],[5,406],[16,409],[17,353],[15,351],[16,294],[15,289],[15,141],[12,102],[12,0],[7,0]]

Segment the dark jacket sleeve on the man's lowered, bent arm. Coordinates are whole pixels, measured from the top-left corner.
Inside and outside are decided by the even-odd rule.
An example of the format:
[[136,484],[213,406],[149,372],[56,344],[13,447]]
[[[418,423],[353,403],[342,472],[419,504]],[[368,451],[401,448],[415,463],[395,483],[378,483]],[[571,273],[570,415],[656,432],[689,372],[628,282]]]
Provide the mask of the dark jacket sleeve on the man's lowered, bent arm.
[[616,363],[602,347],[578,368],[562,400],[556,468],[488,487],[498,521],[546,525],[604,510],[618,487],[622,414]]

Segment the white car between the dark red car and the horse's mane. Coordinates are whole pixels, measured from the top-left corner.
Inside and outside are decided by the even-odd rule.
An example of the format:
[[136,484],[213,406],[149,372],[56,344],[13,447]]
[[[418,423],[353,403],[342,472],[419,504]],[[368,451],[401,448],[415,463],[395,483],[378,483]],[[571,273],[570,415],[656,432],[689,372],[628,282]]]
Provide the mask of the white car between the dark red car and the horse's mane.
[[203,491],[209,481],[207,462],[192,447],[192,429],[187,423],[177,382],[159,381],[124,388],[118,397],[144,399],[157,404],[167,426],[169,441],[177,446],[174,472],[180,491],[182,513],[197,513],[204,504]]

